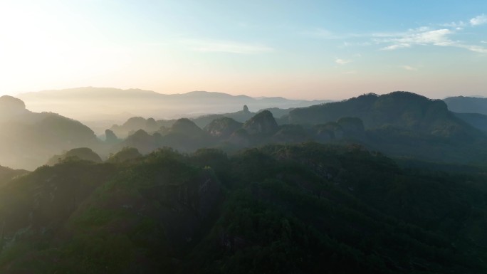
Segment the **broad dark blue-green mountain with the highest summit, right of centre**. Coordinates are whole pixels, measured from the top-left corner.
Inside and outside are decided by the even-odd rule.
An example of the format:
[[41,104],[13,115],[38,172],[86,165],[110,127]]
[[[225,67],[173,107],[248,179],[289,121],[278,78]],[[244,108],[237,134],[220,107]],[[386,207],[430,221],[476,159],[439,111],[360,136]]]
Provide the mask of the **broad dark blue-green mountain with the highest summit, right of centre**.
[[445,102],[408,92],[367,94],[341,102],[291,110],[290,123],[318,125],[341,117],[358,117],[366,129],[392,126],[438,136],[471,135],[478,132],[450,112]]

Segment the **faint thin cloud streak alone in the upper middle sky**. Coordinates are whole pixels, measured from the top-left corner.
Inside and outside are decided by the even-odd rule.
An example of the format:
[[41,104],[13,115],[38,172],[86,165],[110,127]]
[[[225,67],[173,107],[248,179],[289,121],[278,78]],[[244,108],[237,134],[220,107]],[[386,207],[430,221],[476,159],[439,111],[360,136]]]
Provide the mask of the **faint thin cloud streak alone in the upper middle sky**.
[[256,43],[241,43],[235,41],[184,39],[181,43],[192,51],[214,53],[257,54],[274,51],[269,46]]

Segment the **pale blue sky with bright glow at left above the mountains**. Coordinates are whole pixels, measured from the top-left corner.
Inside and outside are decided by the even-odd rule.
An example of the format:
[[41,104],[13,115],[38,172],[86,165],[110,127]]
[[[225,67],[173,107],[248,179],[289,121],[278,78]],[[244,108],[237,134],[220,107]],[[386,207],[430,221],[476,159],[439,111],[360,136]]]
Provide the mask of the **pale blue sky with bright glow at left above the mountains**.
[[487,96],[487,1],[0,0],[0,95]]

